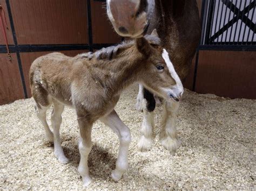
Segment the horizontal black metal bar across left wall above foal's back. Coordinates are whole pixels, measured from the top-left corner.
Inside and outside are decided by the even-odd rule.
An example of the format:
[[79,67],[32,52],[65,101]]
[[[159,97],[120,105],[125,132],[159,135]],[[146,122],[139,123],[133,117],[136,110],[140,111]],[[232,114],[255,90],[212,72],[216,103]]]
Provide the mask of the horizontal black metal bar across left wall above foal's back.
[[[113,46],[115,44],[92,44],[91,47],[100,49],[107,46]],[[72,51],[90,49],[89,44],[50,44],[50,45],[9,45],[11,53],[22,52],[45,52],[45,51]],[[7,53],[5,45],[0,45],[0,53]]]

